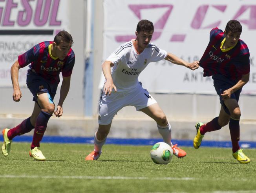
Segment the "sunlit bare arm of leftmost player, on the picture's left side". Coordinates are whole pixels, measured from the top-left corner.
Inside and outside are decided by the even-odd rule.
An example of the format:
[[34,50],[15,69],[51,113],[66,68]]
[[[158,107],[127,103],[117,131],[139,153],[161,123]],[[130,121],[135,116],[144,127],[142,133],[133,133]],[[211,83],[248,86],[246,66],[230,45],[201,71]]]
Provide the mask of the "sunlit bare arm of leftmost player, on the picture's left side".
[[20,68],[21,67],[18,60],[16,60],[13,66],[11,66],[11,82],[13,83],[13,100],[15,102],[19,102],[20,98],[22,97],[22,93],[20,91],[20,86],[18,82]]

